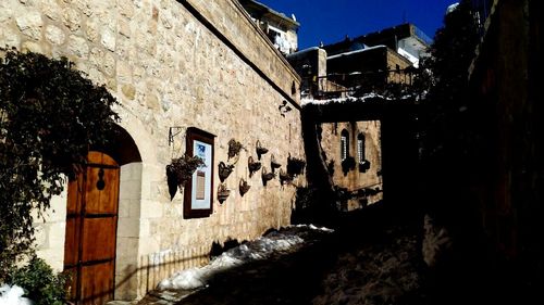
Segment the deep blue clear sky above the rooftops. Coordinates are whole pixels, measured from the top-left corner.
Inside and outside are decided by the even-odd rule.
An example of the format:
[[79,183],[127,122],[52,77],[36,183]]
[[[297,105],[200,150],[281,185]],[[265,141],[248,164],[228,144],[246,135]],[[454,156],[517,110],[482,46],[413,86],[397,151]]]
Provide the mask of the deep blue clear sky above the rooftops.
[[412,23],[429,37],[457,0],[257,0],[300,23],[299,50]]

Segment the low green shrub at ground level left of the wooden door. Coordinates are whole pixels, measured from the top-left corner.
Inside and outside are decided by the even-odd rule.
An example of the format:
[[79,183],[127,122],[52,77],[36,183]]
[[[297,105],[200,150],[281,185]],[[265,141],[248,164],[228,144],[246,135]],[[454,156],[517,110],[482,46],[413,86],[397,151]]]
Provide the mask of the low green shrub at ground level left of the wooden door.
[[27,266],[10,274],[8,282],[25,290],[36,305],[62,305],[66,300],[66,276],[55,275],[47,263],[34,256]]

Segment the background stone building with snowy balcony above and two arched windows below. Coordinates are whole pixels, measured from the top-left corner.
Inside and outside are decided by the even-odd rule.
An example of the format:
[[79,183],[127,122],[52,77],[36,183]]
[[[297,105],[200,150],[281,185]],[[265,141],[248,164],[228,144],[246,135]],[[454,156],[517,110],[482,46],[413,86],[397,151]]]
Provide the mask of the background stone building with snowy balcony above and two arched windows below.
[[[383,182],[383,139],[388,151],[417,151],[408,128],[413,126],[413,110],[405,109],[413,101],[408,98],[410,101],[396,109],[382,105],[400,98],[398,94],[412,84],[413,71],[426,54],[429,42],[415,25],[403,24],[287,55],[302,77],[302,104],[308,109],[304,114],[319,116],[314,117],[320,143],[316,149],[322,156],[316,155],[318,161],[312,164],[326,166],[331,182],[347,198],[343,209],[383,199],[387,188]],[[405,127],[399,130],[399,126]],[[406,185],[411,164],[406,160],[392,155],[385,162],[395,173],[388,175],[393,177],[390,187]]]

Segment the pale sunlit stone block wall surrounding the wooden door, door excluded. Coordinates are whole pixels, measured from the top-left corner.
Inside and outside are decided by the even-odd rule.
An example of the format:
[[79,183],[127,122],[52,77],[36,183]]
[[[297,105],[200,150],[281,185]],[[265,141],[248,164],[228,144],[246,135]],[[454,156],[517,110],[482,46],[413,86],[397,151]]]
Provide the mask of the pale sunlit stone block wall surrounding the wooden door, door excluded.
[[[256,157],[257,140],[270,150],[263,165],[272,154],[284,166],[289,153],[305,157],[299,92],[293,91],[299,78],[236,1],[4,0],[0,46],[66,56],[121,102],[120,125],[141,163],[121,169],[118,298],[141,296],[153,288],[150,278],[206,262],[212,242],[249,240],[289,224],[295,188],[277,179],[263,187],[260,173],[249,178],[247,158]],[[294,111],[281,115],[284,100]],[[230,139],[246,148],[226,180],[231,196],[199,219],[183,218],[183,195],[170,201],[165,177],[165,165],[185,151],[190,126],[217,136],[215,168],[227,160]],[[173,143],[170,127],[181,127]],[[251,185],[244,198],[240,178]],[[58,200],[42,230],[44,240],[58,242],[44,243],[40,253],[60,269],[65,201]]]

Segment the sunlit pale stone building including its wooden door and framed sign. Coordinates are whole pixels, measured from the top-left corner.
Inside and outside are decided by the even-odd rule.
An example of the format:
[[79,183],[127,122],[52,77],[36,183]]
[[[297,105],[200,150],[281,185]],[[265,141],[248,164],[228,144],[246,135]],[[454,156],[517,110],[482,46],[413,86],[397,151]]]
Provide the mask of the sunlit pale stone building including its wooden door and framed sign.
[[[272,155],[283,168],[289,154],[305,158],[300,79],[239,2],[5,0],[0,46],[66,56],[120,101],[115,144],[89,154],[95,165],[36,224],[39,256],[77,275],[75,301],[141,297],[206,263],[213,242],[289,224],[295,188],[277,179],[264,187],[248,160],[257,162],[257,143],[269,150],[260,160],[268,171]],[[282,104],[293,111],[281,113]],[[231,139],[244,147],[233,158]],[[208,166],[171,200],[165,166],[186,152],[202,153]],[[223,183],[221,163],[233,169]],[[102,177],[112,183],[98,188]],[[220,188],[230,191],[222,203]]]

